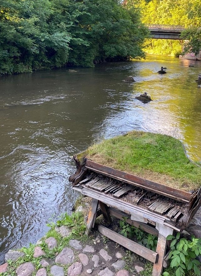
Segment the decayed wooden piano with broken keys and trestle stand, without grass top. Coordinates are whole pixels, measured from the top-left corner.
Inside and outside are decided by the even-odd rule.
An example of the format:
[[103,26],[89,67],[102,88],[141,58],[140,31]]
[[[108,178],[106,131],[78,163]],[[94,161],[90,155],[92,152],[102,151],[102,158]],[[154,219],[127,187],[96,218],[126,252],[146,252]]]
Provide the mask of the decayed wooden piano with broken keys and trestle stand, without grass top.
[[[109,220],[110,215],[158,236],[156,252],[99,225],[102,235],[154,263],[153,276],[160,276],[166,252],[166,237],[173,230],[185,229],[201,205],[201,189],[186,192],[133,174],[93,162],[85,152],[73,156],[77,170],[69,177],[75,191],[92,198],[87,220],[88,232],[95,223],[98,206]],[[167,256],[166,256],[167,257]]]

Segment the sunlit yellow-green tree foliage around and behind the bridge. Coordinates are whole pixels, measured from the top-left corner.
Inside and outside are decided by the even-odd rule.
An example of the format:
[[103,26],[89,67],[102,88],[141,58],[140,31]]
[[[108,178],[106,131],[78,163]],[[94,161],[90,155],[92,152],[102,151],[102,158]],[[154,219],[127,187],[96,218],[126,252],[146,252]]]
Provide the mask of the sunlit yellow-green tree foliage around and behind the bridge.
[[199,41],[201,5],[199,0],[136,0],[135,5],[141,8],[142,20],[146,24],[182,25],[187,28],[182,32],[182,38],[189,42],[150,40],[147,52],[176,55],[178,52],[185,54],[191,51],[197,54],[201,50]]

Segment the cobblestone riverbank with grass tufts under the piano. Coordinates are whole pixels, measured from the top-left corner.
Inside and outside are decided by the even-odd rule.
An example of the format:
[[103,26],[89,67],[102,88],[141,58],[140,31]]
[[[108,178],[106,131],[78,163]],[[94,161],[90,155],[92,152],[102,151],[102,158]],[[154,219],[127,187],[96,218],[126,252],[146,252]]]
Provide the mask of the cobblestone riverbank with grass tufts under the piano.
[[[0,275],[151,275],[151,262],[100,235],[97,224],[104,224],[101,216],[96,219],[90,235],[85,235],[85,217],[89,210],[90,198],[79,197],[76,205],[76,211],[71,216],[63,214],[56,224],[51,223],[51,229],[36,244],[19,250],[9,250],[5,254],[5,263],[0,266]],[[201,211],[198,210],[187,230],[190,234],[201,237],[200,225]],[[118,222],[114,218],[110,227],[118,229]],[[188,233],[185,231],[184,234]],[[166,270],[174,276],[170,268]]]

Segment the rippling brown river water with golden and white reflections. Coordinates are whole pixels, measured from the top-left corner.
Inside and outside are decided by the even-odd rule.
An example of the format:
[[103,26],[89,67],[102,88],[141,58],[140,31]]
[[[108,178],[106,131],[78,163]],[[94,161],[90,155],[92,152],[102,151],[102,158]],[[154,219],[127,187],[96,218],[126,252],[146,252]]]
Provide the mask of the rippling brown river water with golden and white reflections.
[[[189,67],[194,65],[194,67]],[[156,72],[167,67],[167,74]],[[180,139],[201,160],[201,62],[149,56],[0,78],[0,263],[35,243],[78,196],[70,156],[131,130]],[[122,80],[132,75],[135,83]],[[136,95],[148,92],[144,104]]]

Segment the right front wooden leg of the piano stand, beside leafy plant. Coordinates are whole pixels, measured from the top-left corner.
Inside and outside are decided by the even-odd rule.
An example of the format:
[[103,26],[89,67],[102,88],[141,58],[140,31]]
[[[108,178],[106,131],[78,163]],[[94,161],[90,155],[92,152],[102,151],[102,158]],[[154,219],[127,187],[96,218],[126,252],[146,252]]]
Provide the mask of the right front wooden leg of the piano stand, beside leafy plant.
[[158,242],[156,246],[156,253],[158,253],[158,262],[153,266],[152,276],[160,276],[163,271],[163,258],[166,254],[167,240],[168,235],[172,235],[173,229],[167,227],[166,225],[160,225],[156,223],[156,229],[159,231]]

